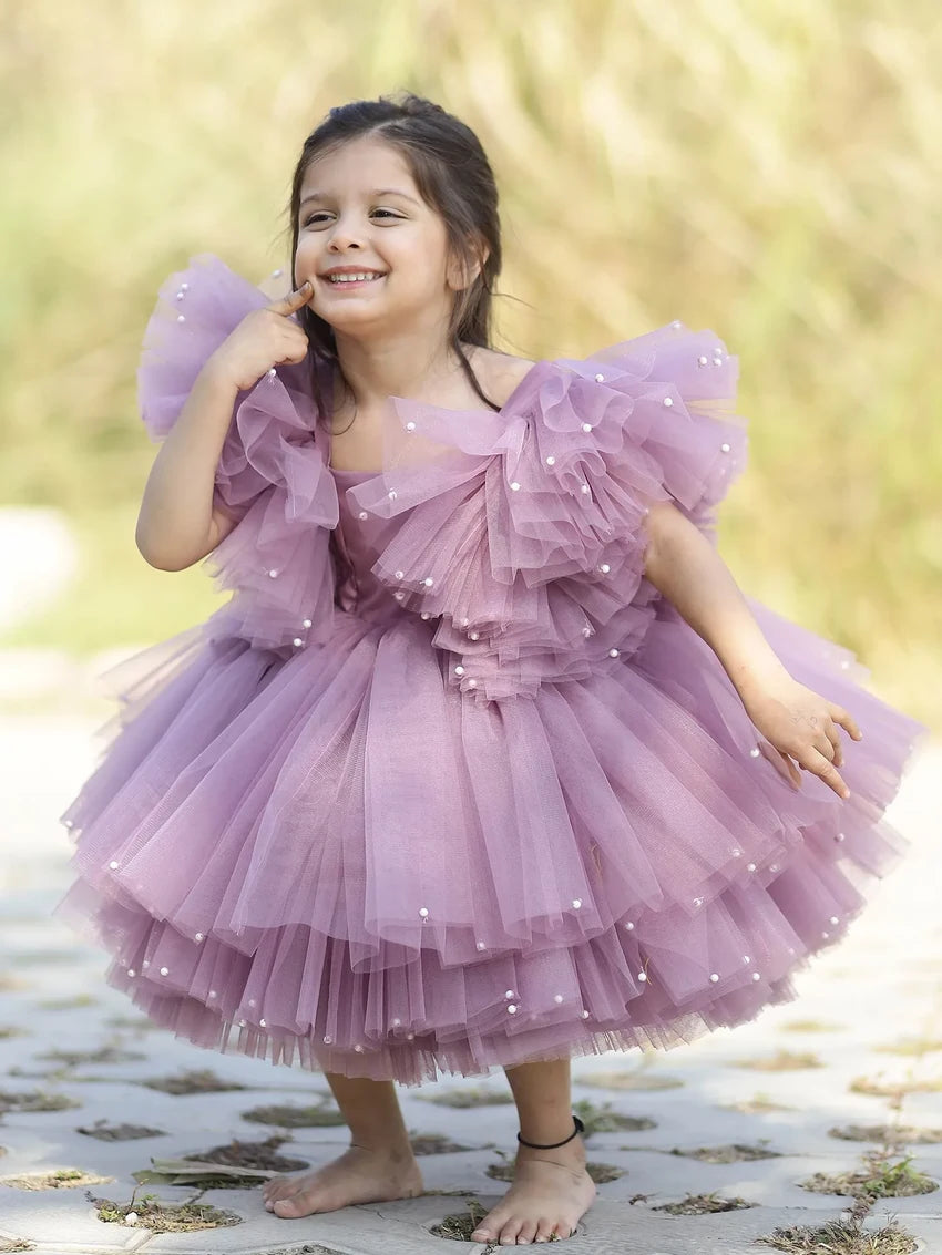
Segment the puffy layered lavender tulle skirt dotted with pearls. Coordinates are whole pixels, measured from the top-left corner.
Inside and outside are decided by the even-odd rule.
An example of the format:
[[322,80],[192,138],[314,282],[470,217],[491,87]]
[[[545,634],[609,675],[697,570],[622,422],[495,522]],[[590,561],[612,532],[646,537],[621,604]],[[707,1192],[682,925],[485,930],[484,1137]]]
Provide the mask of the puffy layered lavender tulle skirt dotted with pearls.
[[840,646],[747,599],[844,705],[850,798],[789,782],[664,602],[641,650],[468,702],[433,624],[338,612],[284,658],[214,620],[106,676],[106,752],[62,817],[58,912],[108,980],[198,1045],[414,1084],[669,1048],[794,996],[904,840],[927,729]]

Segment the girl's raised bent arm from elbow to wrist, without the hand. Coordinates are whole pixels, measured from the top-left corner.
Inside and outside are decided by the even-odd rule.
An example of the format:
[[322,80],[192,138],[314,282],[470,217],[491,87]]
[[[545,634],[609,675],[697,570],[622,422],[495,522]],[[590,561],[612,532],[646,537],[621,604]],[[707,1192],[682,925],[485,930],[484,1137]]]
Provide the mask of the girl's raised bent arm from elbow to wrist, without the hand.
[[161,571],[192,566],[236,526],[212,506],[236,395],[229,378],[203,368],[154,458],[134,540],[146,561]]

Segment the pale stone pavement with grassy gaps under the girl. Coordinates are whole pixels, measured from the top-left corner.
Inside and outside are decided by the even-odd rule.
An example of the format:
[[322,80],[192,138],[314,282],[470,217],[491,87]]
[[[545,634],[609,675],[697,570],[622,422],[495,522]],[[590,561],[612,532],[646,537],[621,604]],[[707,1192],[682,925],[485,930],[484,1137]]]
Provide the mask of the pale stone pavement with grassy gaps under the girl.
[[[487,1250],[430,1229],[466,1212],[467,1200],[487,1206],[505,1190],[487,1175],[502,1155],[512,1155],[516,1132],[500,1071],[399,1089],[416,1137],[437,1135],[460,1147],[423,1147],[437,1150],[421,1163],[428,1190],[440,1192],[281,1220],[264,1210],[257,1187],[157,1183],[139,1186],[137,1200],[144,1194],[176,1204],[198,1199],[239,1222],[154,1234],[142,1222],[98,1219],[89,1195],[126,1207],[136,1187],[132,1173],[148,1168],[152,1157],[180,1160],[232,1140],[257,1143],[283,1135],[280,1155],[320,1163],[347,1141],[342,1126],[289,1128],[247,1119],[246,1113],[274,1103],[322,1101],[330,1108],[327,1084],[318,1074],[200,1050],[149,1028],[104,985],[103,955],[50,921],[49,910],[69,882],[69,850],[55,817],[90,771],[90,733],[102,722],[0,719],[0,762],[10,768],[0,797],[0,1112],[8,1108],[0,1114],[0,1251],[29,1249],[25,1244],[44,1255]],[[599,1185],[599,1201],[566,1251],[759,1255],[772,1247],[756,1239],[776,1229],[847,1216],[850,1197],[811,1192],[800,1182],[816,1172],[858,1170],[879,1138],[849,1141],[831,1130],[942,1130],[941,781],[942,744],[933,744],[889,812],[913,842],[907,861],[872,892],[847,939],[798,976],[795,1003],[667,1054],[574,1060],[574,1099],[583,1113],[603,1126],[604,1116],[631,1117],[636,1127],[588,1137],[590,1162],[605,1166],[610,1180]],[[168,1094],[147,1084],[197,1069],[241,1088],[214,1091],[203,1078],[202,1092]],[[852,1088],[859,1078],[889,1093]],[[455,1093],[458,1101],[462,1094],[492,1101],[467,1107],[430,1101]],[[59,1109],[29,1109],[57,1103]],[[143,1126],[144,1136],[103,1140],[103,1126],[119,1124]],[[717,1155],[717,1147],[727,1152]],[[712,1152],[706,1158],[691,1153],[705,1148]],[[912,1168],[942,1178],[942,1141],[922,1142],[909,1131],[901,1135],[892,1163],[903,1153],[912,1156]],[[50,1176],[55,1172],[58,1180]],[[703,1196],[745,1205],[696,1215],[658,1210],[687,1196],[700,1197],[701,1209]],[[916,1249],[942,1255],[942,1191],[883,1199],[864,1229],[892,1216],[918,1239]],[[799,1249],[805,1247],[793,1247]]]

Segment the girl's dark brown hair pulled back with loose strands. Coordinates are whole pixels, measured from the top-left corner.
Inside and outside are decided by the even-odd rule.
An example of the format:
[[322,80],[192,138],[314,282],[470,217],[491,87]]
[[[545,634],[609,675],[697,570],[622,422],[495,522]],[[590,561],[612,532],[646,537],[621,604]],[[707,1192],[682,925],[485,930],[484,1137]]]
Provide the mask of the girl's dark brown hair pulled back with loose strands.
[[[497,186],[477,136],[441,105],[404,92],[398,94],[398,99],[352,100],[330,109],[304,141],[291,179],[291,201],[286,208],[290,215],[291,264],[298,250],[299,205],[308,167],[315,158],[364,136],[381,137],[402,153],[420,196],[445,223],[452,256],[463,262],[468,272],[480,262],[484,248],[487,250],[474,282],[455,294],[448,340],[471,387],[486,405],[497,410],[500,407],[481,390],[461,348],[462,340],[491,348],[491,296],[501,267]],[[296,287],[294,269],[291,281]],[[311,345],[311,392],[318,413],[323,414],[329,408],[323,384],[337,366],[333,328],[306,305],[298,319]]]

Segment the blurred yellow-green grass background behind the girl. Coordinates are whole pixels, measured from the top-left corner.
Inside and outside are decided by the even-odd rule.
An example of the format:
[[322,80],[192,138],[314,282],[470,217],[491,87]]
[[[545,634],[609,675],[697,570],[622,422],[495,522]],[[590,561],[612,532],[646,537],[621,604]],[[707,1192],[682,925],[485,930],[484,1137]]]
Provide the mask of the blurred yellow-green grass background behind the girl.
[[937,717],[941,58],[932,0],[8,6],[0,502],[60,506],[88,557],[0,646],[146,643],[219,604],[133,545],[157,287],[201,251],[284,265],[304,136],[406,87],[495,166],[499,346],[712,328],[751,419],[721,522],[737,580]]

